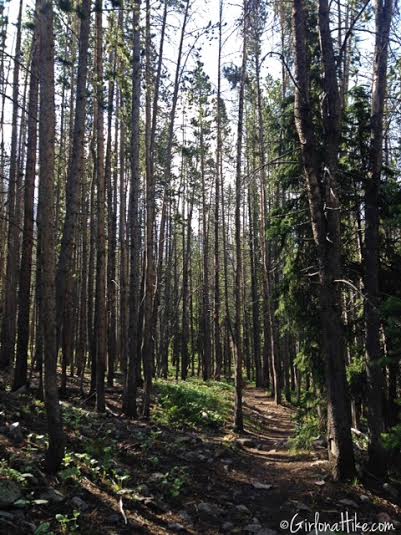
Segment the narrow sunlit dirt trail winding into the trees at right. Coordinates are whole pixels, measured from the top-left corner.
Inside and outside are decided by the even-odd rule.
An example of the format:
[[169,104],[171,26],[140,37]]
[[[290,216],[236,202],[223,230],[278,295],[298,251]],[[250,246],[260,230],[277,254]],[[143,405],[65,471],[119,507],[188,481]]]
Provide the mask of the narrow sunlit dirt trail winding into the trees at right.
[[[234,470],[238,470],[238,480],[248,482],[242,502],[263,527],[284,535],[291,531],[282,527],[283,521],[290,521],[295,514],[297,522],[313,521],[318,513],[322,521],[333,523],[340,520],[341,512],[347,511],[350,515],[356,513],[363,522],[391,519],[397,524],[401,520],[400,507],[389,500],[356,483],[333,482],[325,448],[305,453],[290,449],[293,409],[275,405],[261,389],[245,390],[244,406],[246,421],[256,421],[256,425],[251,424],[246,430],[241,461]],[[272,487],[267,490],[260,484]],[[401,525],[394,533],[401,533]]]

